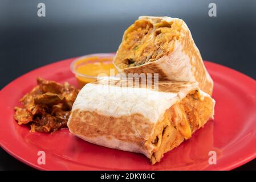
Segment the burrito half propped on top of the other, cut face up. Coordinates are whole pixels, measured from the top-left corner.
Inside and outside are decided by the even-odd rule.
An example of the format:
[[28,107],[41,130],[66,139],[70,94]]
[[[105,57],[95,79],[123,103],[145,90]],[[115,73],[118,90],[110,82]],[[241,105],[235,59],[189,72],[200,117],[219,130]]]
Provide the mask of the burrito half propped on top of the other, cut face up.
[[113,61],[119,72],[159,73],[161,80],[198,81],[212,95],[213,80],[186,23],[178,18],[140,16],[123,35]]

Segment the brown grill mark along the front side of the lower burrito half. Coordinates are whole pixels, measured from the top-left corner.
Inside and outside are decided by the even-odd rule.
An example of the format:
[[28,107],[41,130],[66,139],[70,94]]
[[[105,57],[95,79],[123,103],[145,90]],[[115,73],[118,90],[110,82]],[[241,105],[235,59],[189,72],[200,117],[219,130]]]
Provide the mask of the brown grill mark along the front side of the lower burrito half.
[[[109,117],[96,111],[74,110],[71,120],[68,127],[74,134],[82,133],[84,137],[88,138],[113,137],[124,142],[136,143],[139,146],[142,146],[142,143],[147,140],[145,136],[151,135],[155,127],[155,123],[149,122],[142,114]],[[123,133],[124,135],[122,135]]]

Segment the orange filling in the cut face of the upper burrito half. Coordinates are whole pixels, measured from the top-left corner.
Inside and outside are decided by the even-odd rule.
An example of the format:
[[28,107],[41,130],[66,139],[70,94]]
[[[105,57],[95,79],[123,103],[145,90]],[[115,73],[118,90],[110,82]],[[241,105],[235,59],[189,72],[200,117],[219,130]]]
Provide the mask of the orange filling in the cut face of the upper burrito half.
[[148,20],[136,20],[124,34],[115,64],[124,69],[136,67],[160,59],[174,49],[179,39],[181,20],[152,24]]

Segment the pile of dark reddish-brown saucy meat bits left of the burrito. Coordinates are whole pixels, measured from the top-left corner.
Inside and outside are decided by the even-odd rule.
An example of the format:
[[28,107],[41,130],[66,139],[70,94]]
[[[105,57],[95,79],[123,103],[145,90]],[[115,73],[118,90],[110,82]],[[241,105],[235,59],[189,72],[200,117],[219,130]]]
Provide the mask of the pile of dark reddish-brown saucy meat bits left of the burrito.
[[15,107],[14,119],[19,125],[30,125],[31,131],[53,132],[67,127],[72,105],[79,90],[64,82],[38,77],[37,86],[20,100],[23,107]]

